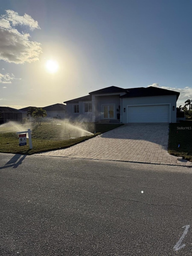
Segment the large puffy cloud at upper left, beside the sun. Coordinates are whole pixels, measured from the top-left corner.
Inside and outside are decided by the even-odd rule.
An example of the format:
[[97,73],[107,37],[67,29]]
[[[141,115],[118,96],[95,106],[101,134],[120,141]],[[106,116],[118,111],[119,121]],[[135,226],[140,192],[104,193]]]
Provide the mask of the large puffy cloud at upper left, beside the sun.
[[7,10],[0,16],[0,60],[22,64],[38,60],[41,44],[29,41],[29,33],[19,32],[15,26],[26,26],[30,30],[40,29],[38,22],[28,14],[20,16]]

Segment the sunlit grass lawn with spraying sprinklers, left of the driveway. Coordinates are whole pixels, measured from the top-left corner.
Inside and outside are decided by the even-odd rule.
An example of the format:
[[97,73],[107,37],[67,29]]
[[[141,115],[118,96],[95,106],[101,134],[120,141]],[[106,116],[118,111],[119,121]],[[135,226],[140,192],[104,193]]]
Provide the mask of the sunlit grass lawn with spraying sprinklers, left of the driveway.
[[[9,128],[4,128],[3,125],[0,125],[0,152],[31,155],[37,152],[49,151],[53,149],[62,149],[82,142],[84,140],[88,140],[91,137],[94,137],[106,131],[110,131],[122,125],[80,123],[80,127],[78,125],[77,128],[77,124],[75,123],[61,123],[61,125],[57,125],[57,122],[43,122],[40,126],[34,125],[34,127],[32,128],[33,149],[29,149],[28,139],[26,146],[19,146],[18,134],[16,134],[16,132],[10,132]],[[74,128],[74,126],[76,128]],[[1,132],[1,130],[3,130],[4,132]],[[5,132],[5,130],[9,132]],[[23,130],[21,129],[19,131],[26,130],[26,128],[23,128]],[[88,131],[90,133],[96,133],[88,134],[85,131]]]

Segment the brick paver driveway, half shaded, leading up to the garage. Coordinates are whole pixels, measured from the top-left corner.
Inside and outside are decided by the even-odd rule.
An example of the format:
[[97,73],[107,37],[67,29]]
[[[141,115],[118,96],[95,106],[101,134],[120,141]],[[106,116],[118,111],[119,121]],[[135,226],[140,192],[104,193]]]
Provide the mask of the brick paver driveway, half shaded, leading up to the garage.
[[66,149],[38,155],[192,166],[167,152],[169,125],[127,124]]

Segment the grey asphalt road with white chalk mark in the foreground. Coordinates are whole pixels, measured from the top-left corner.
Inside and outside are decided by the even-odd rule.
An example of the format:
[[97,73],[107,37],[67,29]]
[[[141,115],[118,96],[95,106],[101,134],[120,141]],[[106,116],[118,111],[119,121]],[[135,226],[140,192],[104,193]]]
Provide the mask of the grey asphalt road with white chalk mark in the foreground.
[[191,190],[188,167],[0,153],[0,255],[192,255]]

